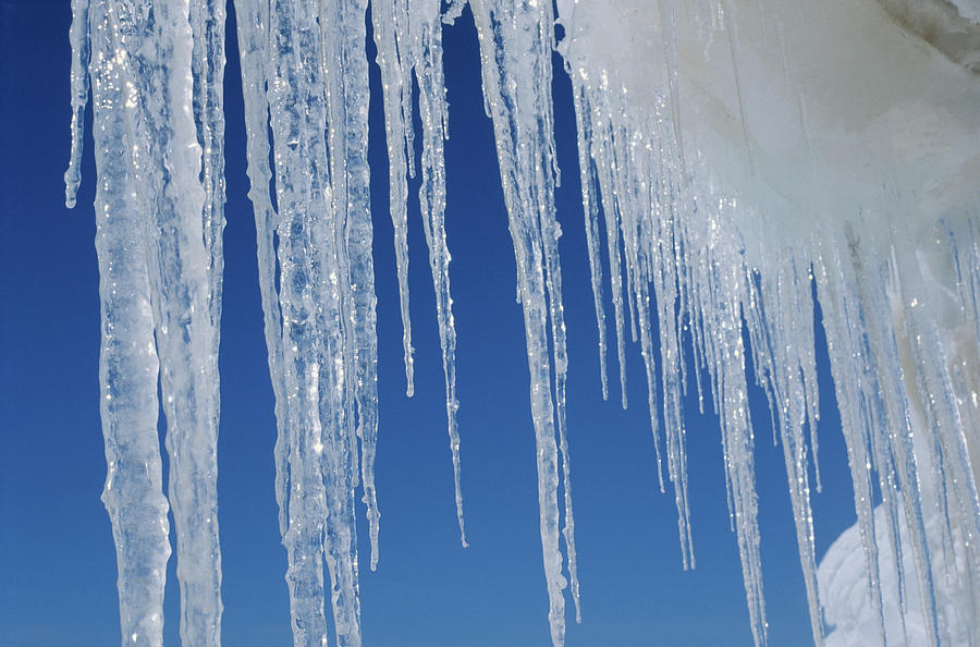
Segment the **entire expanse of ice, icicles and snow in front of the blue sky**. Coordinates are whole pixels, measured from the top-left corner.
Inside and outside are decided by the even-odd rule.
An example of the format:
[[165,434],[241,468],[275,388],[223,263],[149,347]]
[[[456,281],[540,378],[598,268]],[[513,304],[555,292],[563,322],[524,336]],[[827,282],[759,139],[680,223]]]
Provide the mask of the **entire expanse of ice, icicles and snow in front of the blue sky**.
[[[720,419],[749,624],[756,644],[767,642],[751,366],[783,450],[814,643],[980,643],[977,3],[559,0],[556,15],[537,0],[469,4],[524,312],[553,643],[564,642],[564,589],[577,611],[579,588],[554,204],[555,50],[573,88],[602,394],[614,345],[626,406],[624,365],[638,346],[651,469],[672,489],[682,564],[694,567],[696,554],[682,415],[695,384],[702,410]],[[236,0],[235,9],[293,635],[297,645],[329,640],[329,591],[335,642],[357,645],[356,488],[372,569],[380,533],[368,3]],[[375,0],[370,20],[406,390],[407,187],[418,174],[465,546],[442,74],[443,24],[462,9]],[[223,4],[74,0],[73,11],[65,202],[74,204],[79,182],[90,85],[103,500],[123,640],[162,640],[170,506],[182,639],[218,644]],[[857,517],[819,569],[814,293]]]

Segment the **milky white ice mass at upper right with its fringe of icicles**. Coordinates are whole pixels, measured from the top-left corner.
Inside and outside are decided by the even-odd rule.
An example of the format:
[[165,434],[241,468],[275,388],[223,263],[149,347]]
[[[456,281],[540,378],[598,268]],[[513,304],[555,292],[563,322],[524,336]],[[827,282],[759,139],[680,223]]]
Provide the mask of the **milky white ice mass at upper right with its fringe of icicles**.
[[[769,2],[663,2],[656,11],[624,3],[609,12],[598,3],[584,1],[559,4],[560,20],[569,35],[568,42],[560,48],[578,88],[579,105],[589,100],[609,103],[610,95],[615,96],[616,90],[630,96],[622,107],[600,109],[603,117],[609,114],[610,125],[604,126],[608,135],[595,126],[583,129],[579,119],[580,146],[590,146],[592,155],[588,163],[602,169],[599,187],[604,194],[607,222],[618,220],[622,231],[609,232],[611,271],[618,271],[614,266],[618,263],[614,256],[614,251],[620,249],[617,235],[623,240],[627,279],[636,271],[630,267],[636,266],[638,258],[630,252],[634,225],[628,216],[623,216],[624,209],[652,212],[654,223],[664,217],[661,205],[679,211],[677,251],[666,253],[667,258],[675,257],[679,269],[667,274],[672,278],[666,286],[654,281],[654,292],[659,304],[677,300],[679,318],[694,326],[695,354],[707,364],[715,407],[722,414],[730,496],[750,615],[761,621],[754,523],[745,514],[752,511],[751,456],[744,450],[747,443],[750,447],[751,438],[744,434],[732,436],[744,425],[739,417],[742,378],[739,371],[731,371],[733,363],[743,361],[743,354],[740,340],[725,332],[739,326],[740,318],[737,312],[725,314],[730,300],[742,302],[738,307],[751,341],[755,373],[770,399],[783,443],[813,638],[818,643],[823,633],[820,607],[825,600],[818,593],[814,577],[808,485],[809,471],[816,469],[813,431],[819,417],[812,304],[810,281],[806,278],[810,264],[816,268],[817,294],[823,305],[855,483],[855,505],[861,520],[861,546],[870,582],[866,590],[872,600],[869,608],[878,609],[882,637],[884,620],[878,601],[882,590],[878,575],[881,540],[875,535],[880,524],[875,524],[871,513],[874,487],[886,493],[884,509],[889,513],[882,528],[890,528],[893,536],[899,529],[909,529],[906,550],[916,560],[914,569],[904,571],[915,573],[920,593],[916,603],[921,602],[924,609],[923,635],[933,643],[940,640],[938,626],[942,624],[933,601],[938,594],[933,591],[943,578],[938,578],[931,553],[942,548],[944,563],[954,552],[966,563],[972,563],[975,558],[972,541],[957,548],[951,530],[943,530],[942,525],[927,529],[921,521],[923,511],[932,504],[923,503],[924,492],[919,487],[922,461],[928,461],[926,469],[947,483],[938,484],[936,496],[930,498],[939,505],[940,516],[961,520],[959,523],[970,533],[980,518],[971,493],[975,477],[968,467],[975,463],[966,449],[975,436],[970,429],[976,426],[963,419],[975,415],[973,407],[964,406],[969,401],[971,387],[967,384],[972,378],[955,387],[952,377],[959,371],[965,371],[959,373],[964,376],[976,374],[971,350],[975,342],[956,344],[956,350],[950,351],[939,341],[946,340],[948,344],[953,339],[963,339],[961,333],[951,335],[948,331],[963,330],[964,325],[969,326],[967,321],[973,320],[968,305],[972,303],[972,292],[955,288],[969,285],[969,281],[950,270],[954,261],[948,258],[939,261],[942,270],[931,271],[928,279],[922,276],[923,267],[931,269],[936,265],[923,263],[923,257],[931,257],[936,249],[926,242],[936,235],[927,232],[931,232],[929,228],[938,218],[939,222],[956,223],[956,241],[973,240],[970,228],[975,225],[970,223],[976,216],[976,182],[970,182],[967,178],[971,172],[958,164],[976,167],[976,148],[961,144],[976,142],[980,132],[976,111],[970,113],[967,108],[976,101],[978,87],[975,81],[966,81],[966,63],[944,51],[953,63],[959,63],[957,68],[939,53],[908,47],[902,28],[883,20],[879,11],[871,4],[855,13],[836,4],[817,8]],[[639,23],[644,23],[641,27],[637,26]],[[814,29],[813,25],[821,28]],[[855,25],[860,28],[856,30]],[[658,33],[660,37],[639,38],[640,34]],[[860,40],[854,36],[857,33],[862,35]],[[615,38],[612,34],[636,36]],[[676,50],[672,47],[674,41]],[[660,44],[662,51],[658,49]],[[847,71],[846,61],[854,61],[855,56],[860,58],[861,68]],[[897,65],[894,56],[901,59]],[[646,61],[646,78],[638,78],[640,71],[634,66],[620,64],[629,57]],[[928,80],[926,84],[934,94],[926,101],[918,94],[902,96],[899,88],[910,87],[918,80]],[[858,89],[858,83],[871,87]],[[590,88],[596,88],[591,96]],[[629,206],[633,181],[629,170],[621,166],[622,158],[615,156],[622,145],[615,139],[635,137],[630,133],[636,132],[656,132],[641,125],[641,120],[646,118],[644,112],[657,114],[653,107],[658,105],[670,106],[670,110],[662,108],[660,114],[669,115],[666,134],[673,136],[678,148],[672,160],[671,156],[665,158],[674,164],[676,186],[660,203],[648,199],[640,206]],[[936,119],[935,114],[944,118]],[[660,118],[656,123],[662,121]],[[918,125],[912,127],[909,123]],[[963,141],[956,142],[957,137]],[[602,138],[613,143],[589,144],[589,139]],[[933,152],[939,150],[943,151],[941,158]],[[636,168],[648,163],[639,156],[626,159]],[[654,175],[671,176],[664,172]],[[875,183],[872,178],[879,175],[882,181]],[[820,191],[820,186],[833,190]],[[883,186],[884,191],[875,192],[875,186]],[[901,186],[923,190],[921,194],[898,198]],[[911,202],[903,202],[908,199]],[[589,200],[587,193],[587,205]],[[708,231],[699,232],[698,227],[706,219]],[[903,222],[912,224],[903,227]],[[970,244],[959,243],[964,249]],[[663,257],[662,252],[653,256]],[[713,263],[719,263],[718,269],[711,269]],[[731,276],[732,269],[739,266],[743,269],[736,271],[745,272],[746,278]],[[714,285],[719,280],[727,285],[718,290]],[[677,293],[672,292],[673,285]],[[934,309],[922,307],[926,285],[946,285],[929,295]],[[635,279],[627,281],[627,289],[635,292],[635,312],[642,319],[646,295],[637,291]],[[956,292],[959,297],[944,296]],[[664,365],[662,415],[669,465],[674,461],[671,437],[682,428],[671,414],[672,400],[681,387],[667,381],[667,376],[675,373],[669,367],[678,362],[673,358],[674,344],[670,343],[673,312],[674,307],[669,306],[660,314],[662,337],[665,328],[667,331],[661,340],[660,355]],[[923,319],[921,331],[906,328],[919,319]],[[907,325],[899,326],[903,321]],[[943,329],[947,332],[940,332]],[[958,361],[955,369],[951,368],[947,357],[963,357],[965,353],[971,359]],[[966,366],[973,368],[965,369]],[[678,368],[683,375],[683,363]],[[929,395],[923,400],[924,394]],[[953,404],[954,400],[960,404]],[[908,422],[908,412],[916,406],[924,412],[918,425]],[[946,432],[952,436],[943,440]],[[932,451],[911,447],[911,438],[922,434],[934,438]],[[683,439],[683,435],[677,437]],[[810,454],[814,460],[812,467]],[[819,473],[813,474],[819,487]],[[684,471],[672,467],[670,475],[677,492],[684,545]],[[875,479],[878,483],[873,484]],[[957,495],[957,488],[966,491]],[[938,542],[930,541],[936,542],[936,548],[930,549],[927,537],[934,533],[939,533]],[[894,544],[897,539],[890,540]],[[901,577],[903,570],[896,572]],[[764,623],[759,621],[754,622],[757,642],[764,640],[760,632]]]

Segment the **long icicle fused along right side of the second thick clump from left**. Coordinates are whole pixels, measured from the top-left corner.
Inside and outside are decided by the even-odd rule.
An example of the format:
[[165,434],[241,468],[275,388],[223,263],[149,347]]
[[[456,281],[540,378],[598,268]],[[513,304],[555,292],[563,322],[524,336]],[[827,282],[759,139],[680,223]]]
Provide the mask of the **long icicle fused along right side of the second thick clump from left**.
[[[368,69],[365,14],[367,0],[321,0],[320,65],[327,84],[328,150],[333,188],[333,230],[339,280],[336,291],[343,332],[344,367],[329,384],[343,384],[343,401],[321,392],[324,431],[330,436],[323,453],[327,517],[327,565],[332,582],[331,601],[338,643],[360,644],[360,603],[357,590],[357,535],[354,491],[358,468],[364,474],[364,499],[368,504],[372,563],[377,560],[380,513],[375,493],[375,448],[378,438],[378,339],[377,297],[371,258],[370,171],[368,147]],[[332,263],[328,257],[328,264]],[[323,357],[321,370],[340,350]],[[334,362],[335,363],[335,362]],[[336,369],[329,367],[331,371]],[[333,373],[331,373],[333,376]],[[324,402],[330,404],[324,410]],[[346,419],[333,418],[346,407]],[[356,408],[354,406],[356,405]],[[352,413],[352,410],[354,413]],[[356,415],[356,427],[355,416]],[[346,425],[346,427],[344,427]],[[346,439],[344,432],[346,431]],[[356,435],[356,437],[355,437]],[[358,461],[357,439],[362,443]],[[332,444],[332,449],[330,448]],[[346,463],[344,462],[346,461]],[[358,463],[360,463],[358,465]]]

